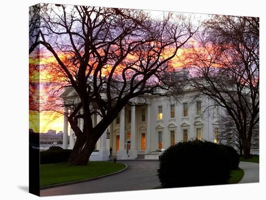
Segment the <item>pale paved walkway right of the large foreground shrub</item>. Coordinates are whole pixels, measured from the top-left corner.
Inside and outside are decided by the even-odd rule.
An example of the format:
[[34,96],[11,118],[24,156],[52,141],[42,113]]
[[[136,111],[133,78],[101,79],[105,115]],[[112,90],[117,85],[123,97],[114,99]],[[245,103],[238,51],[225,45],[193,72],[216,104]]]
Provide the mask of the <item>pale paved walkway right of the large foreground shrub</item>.
[[258,183],[260,180],[259,166],[258,163],[240,162],[239,168],[243,169],[245,174],[239,184]]

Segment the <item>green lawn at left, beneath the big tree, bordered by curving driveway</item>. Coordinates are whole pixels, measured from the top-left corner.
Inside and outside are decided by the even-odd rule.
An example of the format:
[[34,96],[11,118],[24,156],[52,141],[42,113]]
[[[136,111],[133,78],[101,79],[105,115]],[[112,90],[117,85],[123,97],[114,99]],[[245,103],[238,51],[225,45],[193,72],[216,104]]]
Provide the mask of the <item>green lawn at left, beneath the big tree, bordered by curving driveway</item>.
[[40,165],[40,185],[53,185],[70,181],[93,178],[115,171],[126,166],[122,163],[90,161],[86,166],[70,166],[68,163]]

